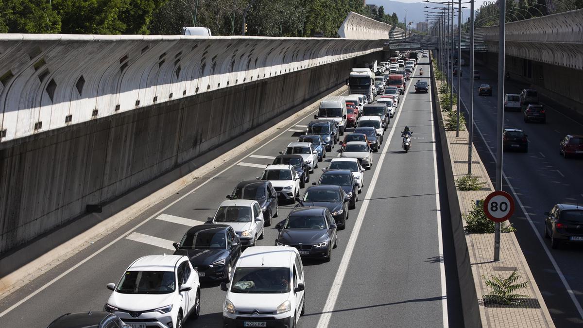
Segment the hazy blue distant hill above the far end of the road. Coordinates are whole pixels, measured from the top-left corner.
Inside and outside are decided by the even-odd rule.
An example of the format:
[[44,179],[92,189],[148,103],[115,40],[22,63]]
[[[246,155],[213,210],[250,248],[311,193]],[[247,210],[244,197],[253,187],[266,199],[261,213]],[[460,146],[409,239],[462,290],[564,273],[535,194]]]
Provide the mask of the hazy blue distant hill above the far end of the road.
[[[384,6],[385,13],[391,15],[393,12],[399,16],[399,22],[405,22],[405,10],[407,11],[407,20],[408,22],[413,22],[411,27],[415,28],[417,23],[425,22],[425,13],[424,11],[436,11],[434,9],[426,9],[423,6],[429,7],[438,7],[441,5],[438,4],[428,4],[427,2],[399,2],[399,1],[389,1],[389,0],[368,0],[366,2],[367,5],[377,5],[377,6]],[[462,6],[466,6],[462,4]],[[456,7],[457,8],[457,7]],[[477,5],[476,5],[477,9]],[[463,20],[467,20],[469,18],[469,9],[462,9],[463,13]],[[462,22],[463,23],[463,22]],[[455,18],[454,25],[458,25],[458,19]]]

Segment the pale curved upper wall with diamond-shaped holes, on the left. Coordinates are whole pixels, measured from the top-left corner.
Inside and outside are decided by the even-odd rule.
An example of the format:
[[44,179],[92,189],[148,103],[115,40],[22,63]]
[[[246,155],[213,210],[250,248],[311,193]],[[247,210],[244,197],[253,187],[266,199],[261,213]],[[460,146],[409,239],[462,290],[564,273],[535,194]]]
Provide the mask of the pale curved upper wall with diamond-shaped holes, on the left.
[[12,139],[369,54],[382,42],[0,34],[0,148]]

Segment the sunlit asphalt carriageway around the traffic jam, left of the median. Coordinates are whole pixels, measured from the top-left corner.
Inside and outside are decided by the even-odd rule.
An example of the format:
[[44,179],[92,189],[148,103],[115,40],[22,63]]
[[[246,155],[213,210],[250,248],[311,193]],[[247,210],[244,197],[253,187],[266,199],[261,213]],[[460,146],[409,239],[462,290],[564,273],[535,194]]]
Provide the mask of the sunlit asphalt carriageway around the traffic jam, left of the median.
[[[418,75],[419,67],[424,68],[425,75]],[[455,259],[450,255],[453,252],[451,240],[447,238],[449,228],[443,223],[449,220],[448,210],[442,206],[447,204],[447,198],[440,199],[438,192],[444,182],[438,180],[442,168],[438,164],[440,150],[436,149],[439,142],[434,134],[431,99],[429,94],[415,94],[412,87],[417,79],[429,81],[429,72],[427,58],[423,58],[385,132],[381,151],[373,155],[373,169],[364,173],[366,185],[359,194],[356,209],[350,210],[346,229],[339,232],[339,245],[332,253],[332,260],[329,263],[304,260],[306,313],[298,327],[455,327],[461,324],[458,281],[452,273]],[[2,299],[0,327],[45,327],[63,313],[103,309],[110,295],[106,289],[108,282],[117,283],[127,266],[138,257],[172,253],[168,245],[180,240],[189,226],[202,224],[213,215],[238,182],[258,176],[263,166],[305,131],[314,111]],[[550,127],[553,120],[549,121]],[[400,131],[405,125],[414,132],[409,153],[401,150]],[[535,131],[531,135],[537,138]],[[549,141],[553,145],[554,139],[557,138]],[[536,139],[536,142],[542,141]],[[336,145],[325,161],[319,163],[310,183],[318,180],[320,169],[328,165],[332,156],[338,155],[338,149]],[[528,156],[533,154],[538,154],[536,145]],[[550,152],[549,146],[545,155],[547,160],[556,156],[556,147]],[[514,157],[519,160],[522,156]],[[558,160],[564,166],[557,169],[565,174],[574,172],[569,168],[578,165]],[[536,165],[534,161],[531,163]],[[508,174],[515,179],[521,169],[517,170]],[[545,174],[553,176],[548,183],[554,187],[560,176]],[[581,175],[577,179],[581,181]],[[565,185],[560,186],[562,189]],[[536,189],[536,194],[543,197],[548,192]],[[561,190],[555,194],[566,195]],[[277,233],[273,226],[292,207],[280,206],[279,218],[266,228],[265,237],[258,245],[273,245]],[[161,214],[153,216],[160,211]],[[521,225],[517,222],[519,231],[526,231]],[[577,251],[560,252],[566,257],[570,253],[577,256]],[[36,294],[30,297],[32,293]],[[218,284],[203,284],[201,317],[196,321],[187,320],[185,327],[222,326],[224,296]]]

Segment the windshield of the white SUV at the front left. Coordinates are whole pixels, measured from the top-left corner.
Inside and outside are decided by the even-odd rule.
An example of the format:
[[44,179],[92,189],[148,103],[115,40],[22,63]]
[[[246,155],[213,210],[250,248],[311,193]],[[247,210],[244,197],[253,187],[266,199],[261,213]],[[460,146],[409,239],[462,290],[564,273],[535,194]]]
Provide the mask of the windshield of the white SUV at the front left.
[[174,271],[126,271],[117,286],[121,294],[170,294],[176,288]]

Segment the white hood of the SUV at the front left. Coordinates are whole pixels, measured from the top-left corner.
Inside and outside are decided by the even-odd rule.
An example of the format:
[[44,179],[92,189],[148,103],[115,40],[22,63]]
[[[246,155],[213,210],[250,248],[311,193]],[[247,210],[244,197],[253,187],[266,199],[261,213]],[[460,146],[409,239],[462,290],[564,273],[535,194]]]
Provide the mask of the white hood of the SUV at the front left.
[[112,292],[107,303],[114,308],[130,311],[146,311],[174,303],[175,292],[169,294],[121,294]]

